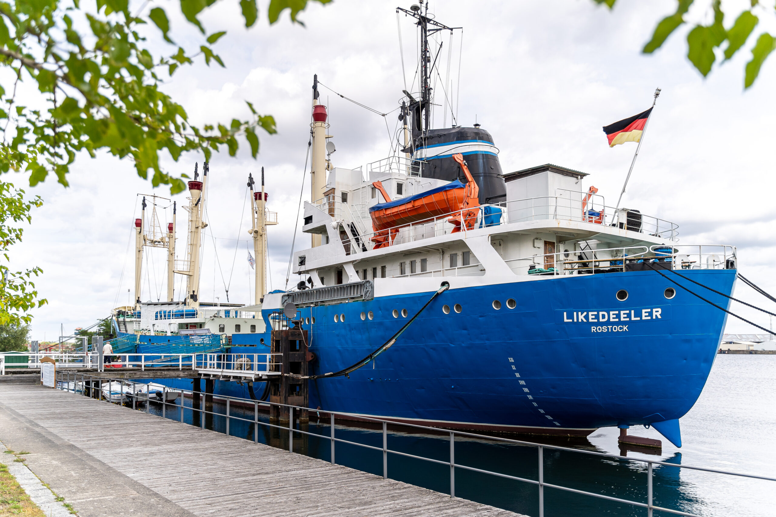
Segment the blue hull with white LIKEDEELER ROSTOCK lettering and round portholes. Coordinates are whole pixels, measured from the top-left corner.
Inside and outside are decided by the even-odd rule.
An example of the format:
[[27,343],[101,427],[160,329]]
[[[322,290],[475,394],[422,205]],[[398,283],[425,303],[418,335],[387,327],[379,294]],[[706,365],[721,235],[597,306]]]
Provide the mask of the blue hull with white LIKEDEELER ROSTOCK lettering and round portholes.
[[[727,298],[665,274],[728,308]],[[735,270],[681,274],[726,295],[736,279]],[[663,295],[666,288],[676,290],[674,298]],[[622,302],[615,297],[621,289],[629,293]],[[432,294],[300,308],[303,318],[315,318],[303,325],[317,357],[311,373],[361,360],[404,325],[403,309],[411,317]],[[374,319],[362,320],[370,311]],[[263,314],[267,322],[270,312]],[[334,315],[345,321],[335,322]],[[449,428],[582,436],[599,427],[678,419],[702,391],[726,316],[654,271],[450,289],[373,364],[349,377],[310,381],[310,408]],[[219,381],[216,391],[248,395],[236,383]]]

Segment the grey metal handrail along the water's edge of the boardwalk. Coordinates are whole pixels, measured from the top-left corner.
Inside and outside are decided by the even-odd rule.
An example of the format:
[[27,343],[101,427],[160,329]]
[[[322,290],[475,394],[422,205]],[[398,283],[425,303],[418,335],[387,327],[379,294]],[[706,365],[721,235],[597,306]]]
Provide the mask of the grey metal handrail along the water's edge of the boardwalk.
[[[67,376],[67,377],[65,377]],[[78,379],[80,378],[80,381]],[[81,386],[81,395],[87,395],[86,393],[86,381],[90,383],[99,382],[102,383],[103,381],[113,382],[115,380],[113,379],[106,379],[105,377],[96,377],[89,374],[79,374],[79,373],[71,373],[71,372],[61,372],[57,373],[57,388],[64,389],[65,391],[72,391],[73,393],[78,393],[78,385]],[[141,384],[141,383],[134,383],[132,381],[123,381],[126,384]],[[109,384],[111,386],[112,384]],[[133,386],[134,388],[134,386]],[[185,409],[183,405],[183,397],[180,397],[180,405],[178,405],[175,402],[167,402],[166,392],[168,388],[165,387],[165,394],[161,397],[158,401],[153,402],[159,402],[161,403],[162,408],[162,417],[166,417],[166,408],[168,405],[175,405],[180,408],[180,421],[183,422],[183,411]],[[90,395],[94,396],[96,393],[102,394],[102,389],[90,389]],[[133,391],[135,391],[133,389]],[[170,389],[170,391],[176,391],[182,394],[189,393],[194,394],[195,391],[191,390],[183,390],[183,389]],[[202,392],[197,391],[196,392],[199,395],[204,395]],[[102,396],[102,395],[100,395]],[[226,434],[229,434],[229,423],[232,419],[241,420],[242,422],[249,422],[254,424],[254,442],[258,443],[258,424],[262,424],[262,426],[268,426],[268,427],[274,427],[276,429],[287,429],[289,432],[289,452],[293,453],[293,433],[300,433],[307,436],[317,436],[319,438],[326,438],[329,439],[331,443],[331,464],[335,464],[335,456],[334,456],[334,446],[337,442],[339,443],[348,443],[350,445],[359,446],[359,447],[365,447],[366,449],[372,449],[372,450],[380,450],[383,452],[383,479],[388,478],[388,454],[396,454],[397,456],[404,456],[404,457],[411,457],[416,460],[424,460],[429,461],[434,464],[441,464],[441,465],[449,465],[450,468],[450,497],[456,497],[456,468],[463,469],[463,470],[470,470],[472,472],[479,472],[480,474],[490,474],[497,477],[504,477],[507,479],[512,479],[514,481],[522,481],[525,483],[535,484],[539,488],[539,517],[544,517],[544,488],[556,488],[558,490],[563,491],[569,491],[573,492],[574,494],[580,494],[580,495],[589,495],[591,497],[595,498],[601,498],[606,499],[608,501],[615,501],[627,505],[633,505],[638,506],[641,508],[647,509],[647,515],[648,517],[653,517],[653,511],[657,510],[660,512],[667,512],[672,513],[674,515],[686,515],[687,517],[701,517],[698,514],[693,514],[689,512],[682,512],[681,510],[674,510],[671,508],[663,508],[662,506],[657,506],[653,502],[653,467],[662,466],[662,467],[673,467],[673,468],[684,468],[689,470],[699,470],[703,472],[711,472],[714,474],[726,474],[729,476],[736,476],[736,477],[747,477],[750,479],[761,479],[765,481],[776,481],[776,478],[774,477],[766,477],[766,476],[757,476],[753,474],[741,474],[739,472],[730,472],[727,470],[718,470],[718,469],[712,469],[707,467],[694,467],[691,465],[682,465],[682,464],[672,464],[667,463],[664,461],[658,461],[658,460],[647,460],[643,458],[637,458],[637,457],[624,457],[619,456],[617,454],[609,454],[609,453],[598,453],[591,450],[582,450],[582,449],[572,449],[570,447],[563,447],[563,446],[553,446],[553,445],[542,445],[539,443],[532,443],[532,442],[525,442],[523,440],[518,439],[510,439],[510,438],[504,438],[501,436],[486,436],[486,435],[480,435],[476,433],[465,433],[461,431],[447,431],[445,429],[439,429],[437,427],[429,427],[429,426],[419,426],[417,424],[411,424],[406,422],[399,422],[395,420],[385,420],[385,419],[375,419],[368,416],[362,416],[362,415],[353,415],[352,413],[343,413],[343,412],[331,412],[331,411],[324,411],[324,410],[311,410],[310,408],[300,408],[299,406],[295,405],[286,405],[286,404],[279,404],[276,402],[258,402],[255,400],[248,400],[247,398],[238,398],[238,397],[229,397],[225,395],[219,395],[217,398],[220,400],[226,401],[226,414],[223,413],[217,413],[212,411],[207,411],[204,407],[203,408],[191,408],[192,412],[200,412],[201,414],[209,414],[209,415],[218,415],[218,416],[224,416],[227,420],[227,426],[226,426]],[[146,400],[146,399],[144,399]],[[151,400],[150,398],[147,398],[147,400]],[[230,415],[230,404],[232,402],[239,402],[243,405],[253,405],[254,407],[254,418],[251,419],[244,419],[239,416]],[[268,422],[262,422],[258,419],[258,405],[276,405],[281,407],[286,407],[289,409],[289,425],[286,426],[278,426],[276,424],[268,423]],[[137,397],[133,397],[133,408],[137,408]],[[323,436],[316,433],[309,433],[307,431],[303,431],[302,429],[294,429],[294,416],[293,412],[294,409],[297,410],[305,410],[305,411],[317,411],[322,413],[328,413],[331,417],[331,436]],[[146,405],[146,412],[150,413],[150,405],[147,402]],[[350,440],[337,438],[334,436],[334,417],[339,416],[342,419],[359,419],[360,421],[365,422],[376,422],[380,423],[383,426],[383,446],[382,447],[376,447],[371,445],[366,445],[365,443],[358,443],[358,442],[352,442]],[[204,428],[205,426],[205,419],[200,419],[201,426]],[[392,426],[406,426],[411,427],[413,429],[424,429],[426,431],[430,431],[431,433],[449,433],[449,443],[450,443],[450,455],[449,455],[449,461],[442,461],[442,460],[435,460],[433,458],[428,457],[422,457],[417,456],[414,454],[409,453],[403,453],[398,450],[390,450],[388,448],[388,424]],[[509,474],[501,474],[500,472],[494,472],[492,470],[483,470],[478,469],[476,467],[469,467],[467,465],[457,464],[456,463],[456,435],[458,436],[466,436],[470,438],[476,438],[476,439],[486,439],[486,440],[494,440],[497,442],[502,443],[514,443],[521,446],[532,446],[537,448],[538,452],[538,461],[539,461],[539,475],[537,479],[530,479],[527,477],[518,477],[518,476],[511,476]],[[629,460],[629,461],[637,461],[643,464],[646,464],[647,467],[647,496],[646,496],[646,502],[641,501],[629,501],[628,499],[622,499],[622,498],[615,498],[610,495],[603,495],[603,494],[596,494],[594,492],[590,491],[584,491],[584,490],[577,490],[576,488],[569,488],[564,487],[559,484],[553,484],[553,483],[547,483],[544,481],[544,450],[559,450],[559,451],[567,451],[567,452],[573,452],[573,453],[580,453],[580,454],[589,454],[592,456],[598,456],[598,457],[605,457],[605,458],[612,458],[615,460]]]

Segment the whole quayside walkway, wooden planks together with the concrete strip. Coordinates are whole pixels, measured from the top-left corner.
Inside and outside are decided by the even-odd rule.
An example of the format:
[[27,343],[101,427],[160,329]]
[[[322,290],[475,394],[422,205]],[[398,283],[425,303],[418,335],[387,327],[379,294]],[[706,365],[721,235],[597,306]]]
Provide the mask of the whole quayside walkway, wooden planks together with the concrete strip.
[[40,386],[0,385],[0,441],[81,517],[518,515]]

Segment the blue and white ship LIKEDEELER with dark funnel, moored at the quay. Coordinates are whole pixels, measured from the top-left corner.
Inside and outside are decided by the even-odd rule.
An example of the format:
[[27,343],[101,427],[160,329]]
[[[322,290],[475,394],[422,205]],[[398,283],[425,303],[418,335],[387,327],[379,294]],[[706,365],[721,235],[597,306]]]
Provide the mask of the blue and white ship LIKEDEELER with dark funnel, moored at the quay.
[[[266,292],[257,280],[255,305],[227,309],[255,315],[241,319],[256,324],[250,339],[207,312],[223,308],[196,305],[191,288],[176,308],[194,311],[192,330],[219,336],[220,350],[265,353],[273,326],[306,330],[310,408],[533,435],[653,426],[681,446],[679,419],[726,324],[735,246],[680,244],[677,224],[607,205],[583,171],[504,172],[480,124],[431,127],[442,104],[432,36],[456,28],[423,2],[397,12],[417,25],[421,54],[419,91],[400,101],[403,146],[366,167],[335,167],[315,76],[300,221],[310,247],[293,251],[296,285]],[[264,206],[253,214],[265,217]],[[193,277],[196,264],[186,267]],[[170,322],[178,337],[189,330]],[[165,336],[139,339],[159,346]],[[216,384],[226,395],[254,390]]]

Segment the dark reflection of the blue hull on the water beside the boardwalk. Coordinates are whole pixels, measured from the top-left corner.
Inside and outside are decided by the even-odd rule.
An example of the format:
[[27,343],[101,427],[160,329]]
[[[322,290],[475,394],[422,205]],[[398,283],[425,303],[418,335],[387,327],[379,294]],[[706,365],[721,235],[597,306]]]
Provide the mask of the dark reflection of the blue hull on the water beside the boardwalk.
[[[220,433],[226,433],[226,405],[218,400],[202,403],[207,412],[192,410],[192,399],[184,398],[183,421],[193,426],[204,426]],[[180,399],[178,399],[179,403]],[[201,407],[201,406],[200,406]],[[144,407],[139,408],[145,410]],[[180,407],[168,405],[165,416],[180,420]],[[150,412],[161,415],[161,405],[151,403]],[[288,450],[289,431],[284,427],[268,426],[268,414],[258,413],[258,428],[254,424],[254,408],[230,404],[229,434],[246,440],[257,440],[269,446]],[[382,429],[378,426],[362,425],[356,422],[337,422],[335,434],[340,439],[355,443],[364,443],[382,447]],[[313,436],[302,433],[293,434],[293,451],[320,460],[331,460],[331,427],[327,418],[321,420],[315,412],[310,412],[310,422],[300,426],[294,422],[294,429],[300,429]],[[414,433],[409,428],[389,427],[388,448],[417,456],[431,457],[440,461],[449,461],[449,434],[446,432]],[[315,436],[318,435],[318,436]],[[320,437],[319,437],[320,436]],[[588,439],[542,439],[536,443],[570,446],[573,448],[607,452],[594,446]],[[625,453],[642,456],[643,451],[625,450]],[[670,463],[681,463],[681,453],[667,458],[657,458]],[[364,470],[376,475],[383,474],[382,453],[348,443],[337,443],[336,460],[338,464]],[[647,467],[635,460],[618,460],[575,453],[571,451],[544,450],[545,481],[577,490],[591,491],[601,495],[632,501],[646,502]],[[539,471],[539,453],[535,446],[521,446],[502,443],[490,439],[471,439],[456,437],[456,464],[492,470],[528,479],[537,479]],[[716,515],[698,498],[694,481],[686,481],[687,472],[674,467],[656,466],[653,470],[654,503],[666,508],[674,508],[699,515]],[[415,484],[434,491],[449,493],[449,467],[431,464],[423,460],[389,454],[388,475],[392,479]],[[487,505],[505,508],[525,515],[539,515],[538,488],[534,484],[481,474],[463,468],[456,469],[456,495]],[[719,510],[719,508],[716,508]],[[592,517],[593,515],[646,515],[644,508],[625,505],[587,495],[577,495],[553,488],[545,489],[545,514],[567,517]],[[658,515],[656,513],[656,515]]]

